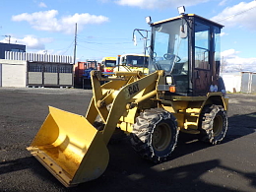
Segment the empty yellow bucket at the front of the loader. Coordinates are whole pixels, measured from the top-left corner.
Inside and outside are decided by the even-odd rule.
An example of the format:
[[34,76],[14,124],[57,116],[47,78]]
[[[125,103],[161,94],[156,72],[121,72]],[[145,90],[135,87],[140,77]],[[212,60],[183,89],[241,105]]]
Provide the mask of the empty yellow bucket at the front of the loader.
[[28,150],[66,187],[96,179],[109,160],[102,133],[84,116],[51,106]]

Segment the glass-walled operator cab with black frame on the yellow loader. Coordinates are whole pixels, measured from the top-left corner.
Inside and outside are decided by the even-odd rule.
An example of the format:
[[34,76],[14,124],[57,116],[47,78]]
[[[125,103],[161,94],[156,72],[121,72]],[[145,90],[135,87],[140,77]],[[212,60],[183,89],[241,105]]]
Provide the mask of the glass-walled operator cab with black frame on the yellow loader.
[[149,70],[164,70],[167,76],[159,91],[171,85],[175,93],[165,95],[205,96],[218,86],[222,25],[185,14],[151,26]]

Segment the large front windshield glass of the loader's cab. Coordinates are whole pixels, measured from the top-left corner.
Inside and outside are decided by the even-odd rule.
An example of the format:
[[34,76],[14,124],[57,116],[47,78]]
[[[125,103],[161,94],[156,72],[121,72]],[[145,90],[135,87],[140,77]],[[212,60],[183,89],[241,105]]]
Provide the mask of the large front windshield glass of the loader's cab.
[[175,20],[153,27],[150,73],[156,70],[164,70],[166,74],[188,73],[188,37],[180,35],[187,30],[183,23]]

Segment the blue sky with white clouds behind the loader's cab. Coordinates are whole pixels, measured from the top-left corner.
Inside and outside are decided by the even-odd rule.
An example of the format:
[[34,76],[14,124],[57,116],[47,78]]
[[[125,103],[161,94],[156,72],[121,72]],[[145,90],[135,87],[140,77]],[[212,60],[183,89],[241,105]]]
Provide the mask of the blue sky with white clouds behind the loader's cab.
[[77,60],[142,53],[144,41],[134,29],[175,17],[177,7],[223,24],[222,56],[227,71],[256,71],[256,1],[236,0],[1,0],[0,41],[27,45],[27,52],[74,54]]

